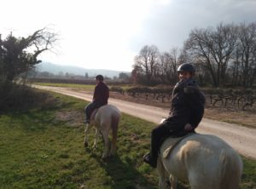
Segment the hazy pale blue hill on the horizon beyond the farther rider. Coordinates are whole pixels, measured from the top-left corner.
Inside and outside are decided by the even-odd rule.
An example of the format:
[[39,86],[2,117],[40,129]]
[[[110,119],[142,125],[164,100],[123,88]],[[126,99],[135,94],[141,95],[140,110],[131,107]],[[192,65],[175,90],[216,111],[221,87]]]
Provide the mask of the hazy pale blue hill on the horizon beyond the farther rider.
[[[102,74],[103,76],[107,77],[119,77],[119,73],[121,71],[113,71],[113,70],[104,70],[104,69],[85,69],[79,66],[63,66],[63,65],[56,65],[50,62],[41,62],[36,66],[36,70],[38,72],[50,72],[55,75],[58,75],[60,72],[62,73],[69,73],[74,75],[84,76],[85,73],[88,73],[89,77],[94,77],[98,74]],[[129,74],[130,72],[124,72]]]

